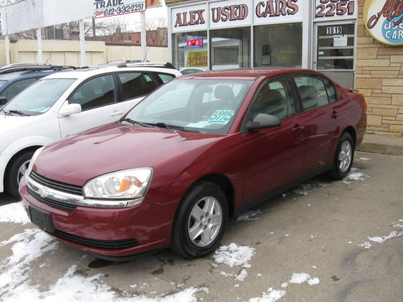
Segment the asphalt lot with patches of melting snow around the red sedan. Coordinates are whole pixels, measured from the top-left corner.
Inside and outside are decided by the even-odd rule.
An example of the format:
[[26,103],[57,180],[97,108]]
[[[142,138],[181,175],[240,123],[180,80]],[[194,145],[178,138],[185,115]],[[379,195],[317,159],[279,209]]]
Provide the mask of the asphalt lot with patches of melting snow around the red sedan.
[[[197,260],[165,250],[108,262],[0,222],[0,301],[401,300],[402,164],[356,152],[347,179],[318,176],[234,217]],[[0,194],[0,211],[14,201]]]

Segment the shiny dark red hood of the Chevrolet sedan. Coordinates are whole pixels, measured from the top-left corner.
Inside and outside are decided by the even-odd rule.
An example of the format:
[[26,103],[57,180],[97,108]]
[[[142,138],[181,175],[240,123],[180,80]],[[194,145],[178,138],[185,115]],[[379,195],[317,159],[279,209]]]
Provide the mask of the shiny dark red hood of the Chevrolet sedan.
[[33,170],[77,186],[131,168],[152,167],[155,173],[174,177],[186,166],[222,151],[219,142],[228,136],[112,123],[46,146]]

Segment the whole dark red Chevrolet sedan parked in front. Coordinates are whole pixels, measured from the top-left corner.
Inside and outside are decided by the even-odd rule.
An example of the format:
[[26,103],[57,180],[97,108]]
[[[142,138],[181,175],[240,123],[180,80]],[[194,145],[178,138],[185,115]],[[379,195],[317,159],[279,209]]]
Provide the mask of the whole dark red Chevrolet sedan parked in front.
[[101,258],[200,257],[229,215],[319,173],[343,179],[365,128],[364,97],[319,72],[199,72],[38,149],[19,190],[39,228]]

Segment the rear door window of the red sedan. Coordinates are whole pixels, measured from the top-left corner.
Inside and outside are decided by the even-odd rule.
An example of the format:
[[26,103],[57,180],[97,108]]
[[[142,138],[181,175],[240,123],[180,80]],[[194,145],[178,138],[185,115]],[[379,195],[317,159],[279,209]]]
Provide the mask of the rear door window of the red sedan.
[[318,108],[329,103],[320,75],[298,74],[294,75],[294,79],[301,97],[303,111]]

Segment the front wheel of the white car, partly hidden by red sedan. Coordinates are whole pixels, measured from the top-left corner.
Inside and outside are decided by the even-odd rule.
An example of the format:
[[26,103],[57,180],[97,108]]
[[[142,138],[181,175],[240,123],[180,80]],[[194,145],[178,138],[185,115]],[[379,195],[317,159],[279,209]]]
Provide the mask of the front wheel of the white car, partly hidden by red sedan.
[[16,198],[19,198],[18,186],[21,178],[29,166],[32,156],[35,151],[26,151],[13,159],[10,166],[7,168],[5,186],[6,190]]

